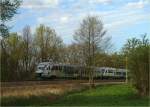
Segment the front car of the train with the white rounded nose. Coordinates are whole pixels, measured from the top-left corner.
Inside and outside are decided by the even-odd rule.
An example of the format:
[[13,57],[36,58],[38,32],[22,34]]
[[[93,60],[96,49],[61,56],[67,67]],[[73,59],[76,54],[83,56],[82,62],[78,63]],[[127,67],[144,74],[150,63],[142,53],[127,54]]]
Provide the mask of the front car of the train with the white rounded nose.
[[36,70],[38,78],[75,78],[80,76],[80,66],[68,64],[39,63]]

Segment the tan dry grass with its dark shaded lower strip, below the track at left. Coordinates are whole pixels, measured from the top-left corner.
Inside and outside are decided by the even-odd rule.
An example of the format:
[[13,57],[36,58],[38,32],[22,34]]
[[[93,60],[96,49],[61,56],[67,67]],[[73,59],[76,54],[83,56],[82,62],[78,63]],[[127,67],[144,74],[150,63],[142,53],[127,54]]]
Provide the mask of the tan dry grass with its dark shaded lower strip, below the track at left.
[[63,95],[80,91],[84,87],[79,84],[50,84],[21,87],[2,87],[1,106],[43,106]]

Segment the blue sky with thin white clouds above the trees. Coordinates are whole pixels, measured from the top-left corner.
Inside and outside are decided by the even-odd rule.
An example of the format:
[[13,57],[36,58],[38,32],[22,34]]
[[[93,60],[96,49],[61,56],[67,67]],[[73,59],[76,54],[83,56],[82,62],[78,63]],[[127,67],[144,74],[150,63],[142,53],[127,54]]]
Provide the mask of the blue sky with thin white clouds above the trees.
[[71,44],[75,30],[88,15],[103,21],[114,50],[121,49],[129,38],[150,35],[150,0],[23,0],[9,25],[18,33],[29,25],[34,33],[37,26],[45,24],[55,29],[65,44]]

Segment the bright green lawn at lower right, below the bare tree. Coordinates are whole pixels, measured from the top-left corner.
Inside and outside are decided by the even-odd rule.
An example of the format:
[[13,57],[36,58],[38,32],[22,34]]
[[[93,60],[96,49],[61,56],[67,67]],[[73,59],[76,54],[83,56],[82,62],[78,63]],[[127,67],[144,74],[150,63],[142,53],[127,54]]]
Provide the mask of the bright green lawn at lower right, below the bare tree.
[[53,106],[148,106],[148,97],[141,98],[130,85],[106,85],[70,94]]

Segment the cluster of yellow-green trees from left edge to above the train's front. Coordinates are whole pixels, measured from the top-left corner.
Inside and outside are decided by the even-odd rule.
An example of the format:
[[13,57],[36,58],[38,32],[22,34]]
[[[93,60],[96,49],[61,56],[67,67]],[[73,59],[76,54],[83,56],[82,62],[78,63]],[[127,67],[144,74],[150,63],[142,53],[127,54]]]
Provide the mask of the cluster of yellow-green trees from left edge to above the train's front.
[[22,35],[10,33],[1,41],[1,80],[28,80],[36,64],[45,59],[62,60],[63,42],[55,30],[44,25],[37,27],[34,35],[26,26]]

